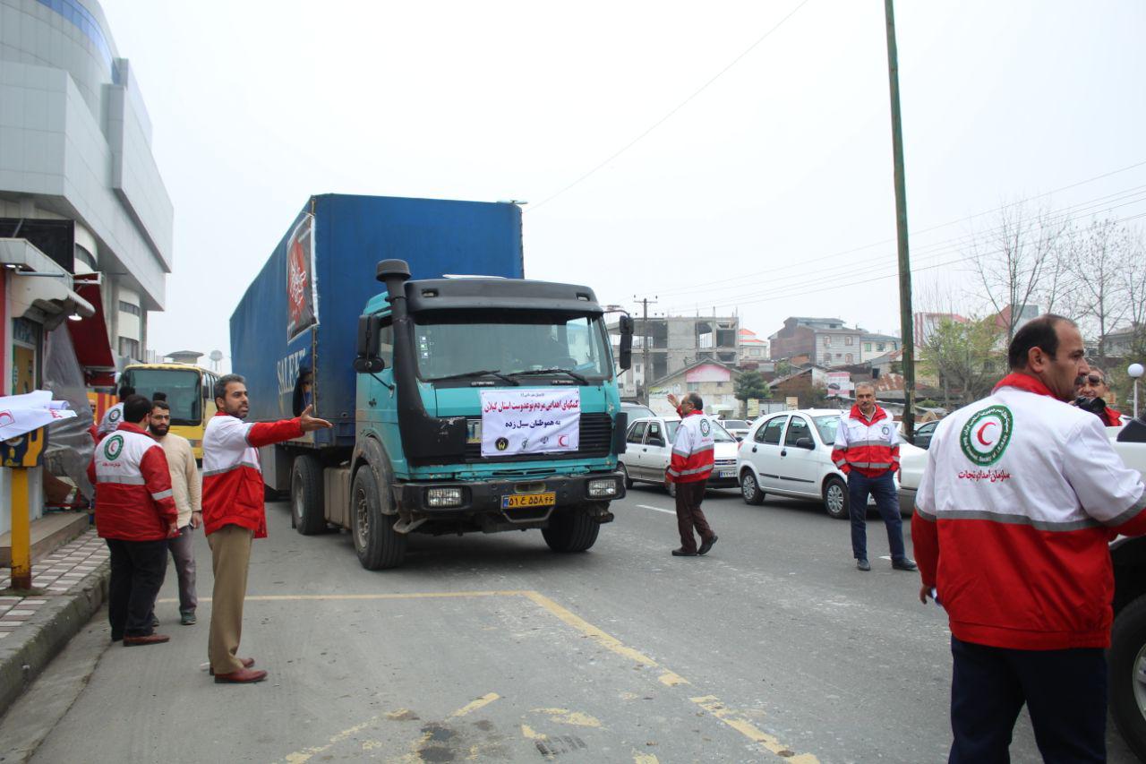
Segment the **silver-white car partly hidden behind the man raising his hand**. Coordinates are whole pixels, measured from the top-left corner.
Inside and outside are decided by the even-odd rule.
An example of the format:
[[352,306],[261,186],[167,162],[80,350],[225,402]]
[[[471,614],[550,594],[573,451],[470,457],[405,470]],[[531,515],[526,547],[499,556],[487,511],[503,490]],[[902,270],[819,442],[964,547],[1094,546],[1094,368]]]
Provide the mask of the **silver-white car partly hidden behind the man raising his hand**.
[[[673,460],[673,438],[680,426],[681,420],[676,416],[646,416],[629,424],[625,453],[619,458],[625,488],[633,488],[638,482],[656,483],[664,485],[669,496],[676,496],[676,484],[665,483],[665,470]],[[708,488],[736,488],[736,438],[717,423],[713,439],[716,442],[715,465]]]

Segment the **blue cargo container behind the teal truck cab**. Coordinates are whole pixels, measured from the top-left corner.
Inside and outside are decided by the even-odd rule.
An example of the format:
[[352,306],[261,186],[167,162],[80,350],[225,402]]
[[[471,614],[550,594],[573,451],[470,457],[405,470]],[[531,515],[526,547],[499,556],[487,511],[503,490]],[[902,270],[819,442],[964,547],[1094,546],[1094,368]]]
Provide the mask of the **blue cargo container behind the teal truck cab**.
[[[288,337],[288,264],[292,236],[313,224],[313,289],[317,323]],[[231,366],[246,377],[249,421],[296,414],[299,375],[314,374],[315,415],[332,430],[306,436],[314,446],[354,445],[355,327],[380,287],[375,264],[409,263],[414,279],[482,274],[520,279],[521,210],[511,203],[395,196],[312,196],[278,242],[230,318]]]

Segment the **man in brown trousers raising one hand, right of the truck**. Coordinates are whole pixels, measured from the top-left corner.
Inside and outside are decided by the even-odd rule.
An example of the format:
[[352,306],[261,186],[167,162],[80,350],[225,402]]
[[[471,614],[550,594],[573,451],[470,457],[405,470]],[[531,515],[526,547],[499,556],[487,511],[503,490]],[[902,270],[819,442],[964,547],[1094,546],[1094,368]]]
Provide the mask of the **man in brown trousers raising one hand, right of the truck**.
[[[681,532],[681,548],[673,549],[673,556],[694,558],[708,554],[716,543],[716,533],[700,510],[713,471],[714,426],[705,415],[704,400],[696,392],[685,395],[680,404],[676,396],[669,393],[668,403],[681,415],[681,426],[673,441],[673,459],[665,474],[665,480],[676,485],[676,524]],[[699,549],[693,529],[700,536]]]

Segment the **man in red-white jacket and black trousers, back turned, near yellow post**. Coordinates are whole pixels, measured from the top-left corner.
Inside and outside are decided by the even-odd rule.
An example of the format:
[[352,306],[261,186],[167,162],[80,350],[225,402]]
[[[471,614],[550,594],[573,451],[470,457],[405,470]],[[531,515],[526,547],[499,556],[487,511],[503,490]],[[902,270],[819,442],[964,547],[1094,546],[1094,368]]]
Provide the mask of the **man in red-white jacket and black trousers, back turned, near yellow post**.
[[179,510],[163,446],[143,429],[151,402],[123,400],[118,427],[95,447],[87,476],[95,486],[95,530],[111,552],[108,621],[111,640],[127,647],[166,642],[151,626],[151,608],[167,568],[167,539]]

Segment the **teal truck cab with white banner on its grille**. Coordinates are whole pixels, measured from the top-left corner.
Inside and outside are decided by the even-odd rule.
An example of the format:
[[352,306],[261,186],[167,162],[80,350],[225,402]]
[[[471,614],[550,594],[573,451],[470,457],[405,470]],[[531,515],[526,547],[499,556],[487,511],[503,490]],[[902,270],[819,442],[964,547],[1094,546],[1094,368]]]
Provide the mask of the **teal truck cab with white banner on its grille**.
[[[411,281],[403,260],[377,278],[385,293],[358,326],[353,452],[323,469],[327,506],[297,513],[300,530],[348,529],[368,569],[400,564],[415,532],[537,529],[556,552],[591,547],[625,494],[626,430],[592,290]],[[621,368],[631,336],[622,317]]]

